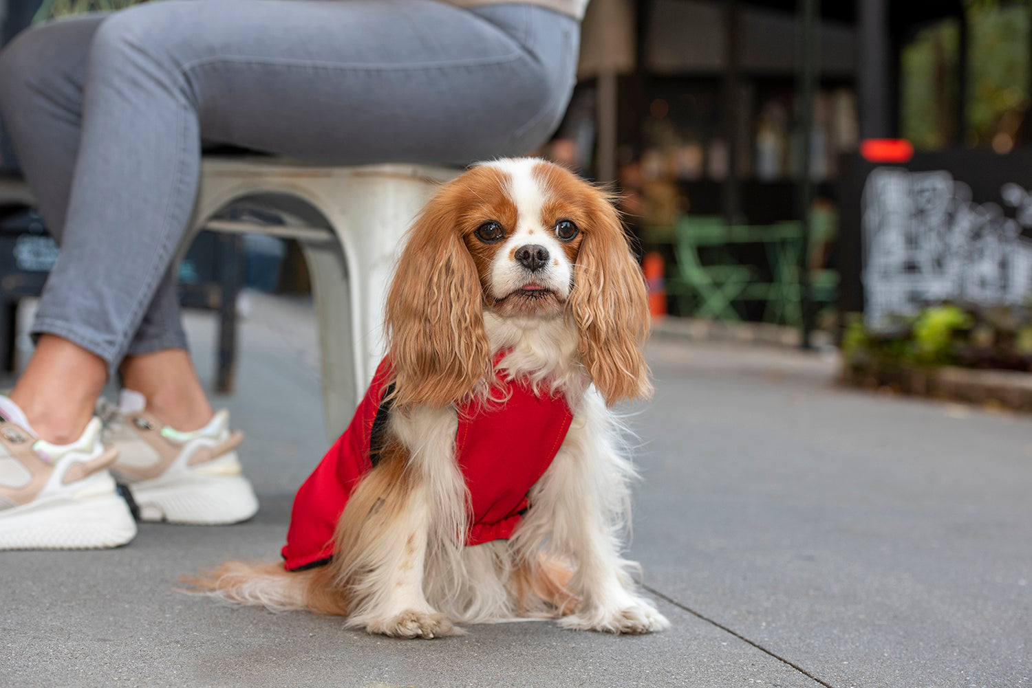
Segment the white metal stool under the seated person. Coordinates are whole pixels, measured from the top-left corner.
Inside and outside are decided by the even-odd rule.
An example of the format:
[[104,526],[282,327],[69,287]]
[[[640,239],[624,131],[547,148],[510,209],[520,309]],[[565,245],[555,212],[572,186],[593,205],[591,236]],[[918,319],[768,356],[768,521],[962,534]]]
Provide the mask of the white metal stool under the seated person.
[[[458,170],[416,164],[332,167],[278,158],[207,157],[180,257],[200,229],[296,239],[312,275],[326,431],[340,435],[383,355],[384,298],[402,234]],[[247,200],[287,225],[212,220]],[[427,257],[431,260],[432,257]]]

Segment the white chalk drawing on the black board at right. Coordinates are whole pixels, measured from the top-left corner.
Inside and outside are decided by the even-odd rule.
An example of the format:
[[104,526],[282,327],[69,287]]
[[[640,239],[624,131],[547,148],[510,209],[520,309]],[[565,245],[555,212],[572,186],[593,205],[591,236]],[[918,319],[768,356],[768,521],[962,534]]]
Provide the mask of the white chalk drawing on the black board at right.
[[864,185],[864,319],[884,326],[930,303],[985,305],[1032,297],[1032,195],[1017,184],[996,203],[973,203],[971,188],[945,171],[879,167]]

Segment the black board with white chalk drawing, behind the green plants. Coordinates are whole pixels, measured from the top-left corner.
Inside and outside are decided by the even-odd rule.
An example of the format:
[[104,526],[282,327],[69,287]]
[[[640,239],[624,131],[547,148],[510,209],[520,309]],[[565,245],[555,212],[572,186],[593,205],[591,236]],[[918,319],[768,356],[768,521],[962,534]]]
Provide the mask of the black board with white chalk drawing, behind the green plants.
[[853,161],[843,182],[852,188],[842,194],[842,245],[861,259],[843,264],[843,296],[853,301],[844,305],[857,309],[861,287],[869,326],[890,326],[895,316],[942,301],[1032,298],[1029,154],[922,154],[905,165]]

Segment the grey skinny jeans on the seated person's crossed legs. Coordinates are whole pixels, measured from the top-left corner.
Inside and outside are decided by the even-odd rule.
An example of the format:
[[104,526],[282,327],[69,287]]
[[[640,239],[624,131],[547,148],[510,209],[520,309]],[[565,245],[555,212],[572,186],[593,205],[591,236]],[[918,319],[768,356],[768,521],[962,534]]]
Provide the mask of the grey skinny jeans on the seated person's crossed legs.
[[342,164],[519,155],[558,125],[576,21],[433,0],[161,0],[0,55],[0,112],[61,253],[34,324],[112,367],[185,349],[173,254],[202,141]]

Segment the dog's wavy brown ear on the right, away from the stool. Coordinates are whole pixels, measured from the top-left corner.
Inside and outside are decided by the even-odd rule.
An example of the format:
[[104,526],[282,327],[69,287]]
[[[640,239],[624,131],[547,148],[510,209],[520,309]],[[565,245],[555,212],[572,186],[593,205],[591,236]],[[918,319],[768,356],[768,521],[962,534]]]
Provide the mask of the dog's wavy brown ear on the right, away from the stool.
[[568,307],[581,360],[606,403],[650,396],[643,351],[650,328],[645,281],[620,217],[602,193],[591,203]]

